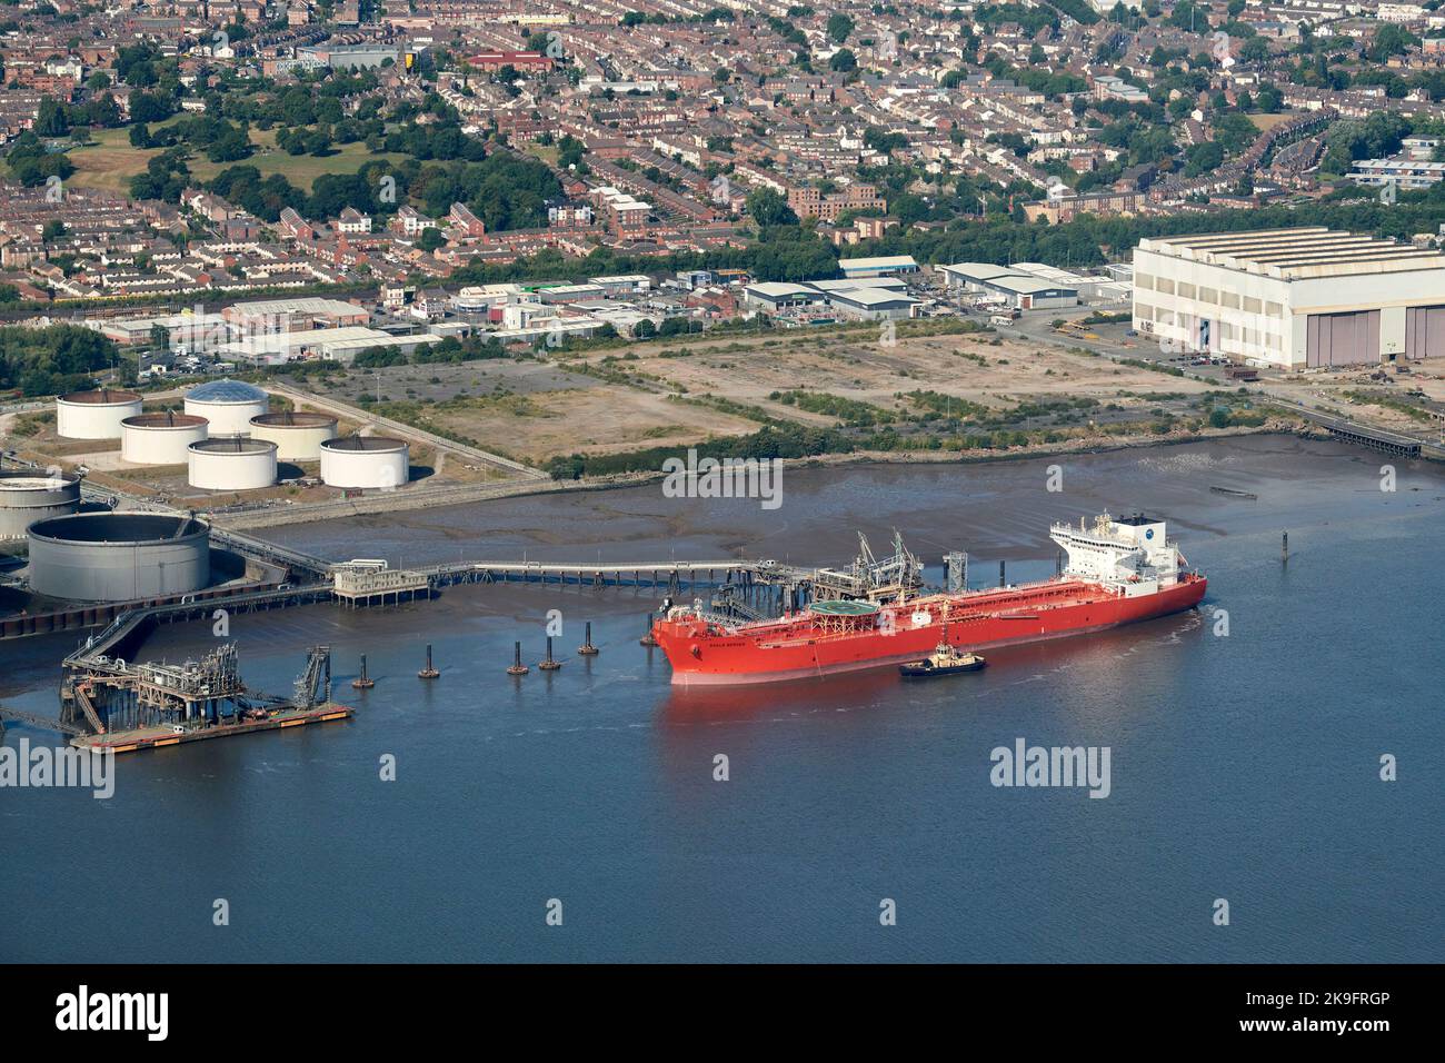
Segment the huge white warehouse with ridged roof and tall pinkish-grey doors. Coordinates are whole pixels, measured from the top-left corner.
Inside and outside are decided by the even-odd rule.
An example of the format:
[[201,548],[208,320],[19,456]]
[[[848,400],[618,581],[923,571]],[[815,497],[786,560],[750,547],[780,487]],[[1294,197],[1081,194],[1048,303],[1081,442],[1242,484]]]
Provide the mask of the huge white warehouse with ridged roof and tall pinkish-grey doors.
[[1140,240],[1133,320],[1283,369],[1445,356],[1445,256],[1321,227]]

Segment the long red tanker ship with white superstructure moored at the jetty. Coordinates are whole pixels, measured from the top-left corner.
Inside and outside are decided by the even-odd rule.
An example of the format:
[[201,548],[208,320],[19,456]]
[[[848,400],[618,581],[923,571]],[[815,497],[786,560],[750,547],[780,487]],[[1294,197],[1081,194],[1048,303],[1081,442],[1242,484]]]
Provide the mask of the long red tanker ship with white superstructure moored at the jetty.
[[[894,586],[816,600],[773,620],[737,622],[696,603],[670,607],[652,635],[675,684],[773,683],[915,661],[938,646],[945,619],[948,642],[974,651],[1168,616],[1204,597],[1205,577],[1185,568],[1163,521],[1104,513],[1092,526],[1056,524],[1049,537],[1068,561],[1040,583],[910,594],[907,576],[922,565],[899,542],[889,563],[905,558]],[[864,554],[871,561],[866,542]],[[967,568],[959,584],[967,586]]]

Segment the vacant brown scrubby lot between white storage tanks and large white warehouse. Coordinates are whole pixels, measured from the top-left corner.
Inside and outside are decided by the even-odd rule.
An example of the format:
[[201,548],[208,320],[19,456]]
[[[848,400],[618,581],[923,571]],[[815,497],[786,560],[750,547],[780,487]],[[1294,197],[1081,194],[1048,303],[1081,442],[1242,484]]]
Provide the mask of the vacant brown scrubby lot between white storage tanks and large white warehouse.
[[906,398],[916,390],[1001,415],[1020,404],[1092,399],[1100,409],[1085,419],[1101,425],[1149,418],[1162,406],[1185,414],[1211,390],[1199,380],[1118,366],[1006,331],[961,334],[931,323],[900,323],[893,337],[879,325],[711,333],[558,351],[546,360],[353,369],[312,386],[533,466],[574,453],[681,448],[744,435],[766,418],[840,424],[832,412],[782,401],[796,390],[867,404],[900,422],[919,414]]

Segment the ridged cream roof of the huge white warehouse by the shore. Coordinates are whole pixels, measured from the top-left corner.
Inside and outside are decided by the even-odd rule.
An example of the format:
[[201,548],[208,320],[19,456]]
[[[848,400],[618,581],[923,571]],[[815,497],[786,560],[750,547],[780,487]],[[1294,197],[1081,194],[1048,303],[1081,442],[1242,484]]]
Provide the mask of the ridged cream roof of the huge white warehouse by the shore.
[[1285,281],[1445,269],[1439,252],[1318,226],[1157,237],[1139,250]]

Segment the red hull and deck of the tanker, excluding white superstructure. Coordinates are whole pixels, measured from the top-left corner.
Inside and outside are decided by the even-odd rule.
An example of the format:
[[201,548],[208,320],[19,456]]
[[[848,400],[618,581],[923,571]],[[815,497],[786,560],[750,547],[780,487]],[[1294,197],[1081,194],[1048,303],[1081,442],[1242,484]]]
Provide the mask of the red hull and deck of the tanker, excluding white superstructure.
[[[1121,594],[1061,580],[1030,589],[920,599],[897,612],[903,619],[892,631],[837,631],[825,622],[796,618],[714,633],[699,620],[683,619],[657,620],[653,636],[668,655],[675,686],[782,683],[926,657],[944,636],[938,606],[945,600],[951,613],[946,641],[958,649],[978,651],[1169,616],[1196,606],[1205,587],[1202,576],[1188,576],[1149,594]],[[910,610],[920,606],[931,612],[931,622],[907,623]]]

